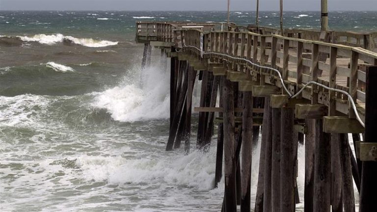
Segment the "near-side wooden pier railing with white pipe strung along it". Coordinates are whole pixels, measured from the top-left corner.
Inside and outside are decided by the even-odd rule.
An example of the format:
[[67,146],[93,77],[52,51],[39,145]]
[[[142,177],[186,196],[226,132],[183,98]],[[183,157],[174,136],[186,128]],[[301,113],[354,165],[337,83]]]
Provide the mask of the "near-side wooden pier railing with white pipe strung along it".
[[[222,31],[218,30],[219,26],[223,28]],[[212,61],[226,60],[241,64],[242,70],[238,71],[245,74],[245,79],[256,80],[260,75],[262,81],[258,83],[274,84],[281,88],[283,85],[276,72],[250,65],[240,58],[276,68],[292,94],[310,81],[346,91],[356,104],[361,120],[364,120],[365,68],[377,65],[377,53],[352,47],[354,45],[316,41],[315,36],[320,36],[320,32],[316,35],[313,31],[287,30],[292,37],[285,37],[241,30],[228,31],[230,28],[235,29],[233,25],[221,26],[214,23],[138,22],[137,37],[138,39],[155,37],[156,39],[152,40],[171,42],[176,48],[187,47],[183,51],[197,58],[201,58],[203,53],[206,53],[204,57],[211,58]],[[366,36],[354,32],[336,32],[336,34],[339,38],[355,38],[356,43],[360,43]],[[312,36],[313,40],[295,38],[297,36]],[[344,43],[350,44],[348,41]],[[226,55],[237,58],[229,59]],[[344,93],[311,85],[304,88],[301,96],[325,106],[333,106],[337,111],[350,117],[355,116],[352,104]]]

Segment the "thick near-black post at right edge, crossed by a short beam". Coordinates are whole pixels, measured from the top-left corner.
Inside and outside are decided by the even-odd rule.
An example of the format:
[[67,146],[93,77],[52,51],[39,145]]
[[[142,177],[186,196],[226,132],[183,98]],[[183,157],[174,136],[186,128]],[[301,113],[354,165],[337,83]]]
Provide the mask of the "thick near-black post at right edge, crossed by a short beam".
[[[377,147],[377,66],[368,67],[366,72],[365,97],[365,140]],[[373,145],[376,144],[376,145]],[[360,143],[360,145],[362,145]],[[372,148],[373,148],[372,147]],[[372,152],[372,151],[370,151]],[[361,154],[361,152],[360,152]],[[360,212],[376,211],[377,161],[363,161],[361,170]]]

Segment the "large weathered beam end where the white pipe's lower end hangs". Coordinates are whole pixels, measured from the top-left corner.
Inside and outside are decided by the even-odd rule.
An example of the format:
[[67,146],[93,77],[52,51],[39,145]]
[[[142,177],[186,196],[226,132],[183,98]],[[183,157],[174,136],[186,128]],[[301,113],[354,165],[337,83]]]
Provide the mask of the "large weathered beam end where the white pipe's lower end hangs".
[[364,127],[356,119],[351,119],[344,116],[324,116],[323,132],[363,133]]

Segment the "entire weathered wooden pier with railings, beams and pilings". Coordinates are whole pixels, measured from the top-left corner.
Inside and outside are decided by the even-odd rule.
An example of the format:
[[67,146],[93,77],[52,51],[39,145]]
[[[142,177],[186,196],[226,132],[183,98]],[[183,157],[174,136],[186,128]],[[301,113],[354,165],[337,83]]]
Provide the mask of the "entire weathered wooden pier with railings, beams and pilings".
[[[377,33],[137,22],[136,41],[145,45],[143,67],[151,46],[170,57],[166,150],[181,141],[186,153],[192,148],[192,107],[199,112],[196,148],[208,150],[217,124],[214,187],[224,176],[222,211],[235,212],[237,205],[241,212],[295,211],[302,198],[298,143],[305,143],[305,212],[354,212],[352,179],[360,212],[377,211]],[[200,105],[192,106],[197,75]],[[251,170],[260,130],[259,170]],[[251,206],[251,172],[257,171]]]

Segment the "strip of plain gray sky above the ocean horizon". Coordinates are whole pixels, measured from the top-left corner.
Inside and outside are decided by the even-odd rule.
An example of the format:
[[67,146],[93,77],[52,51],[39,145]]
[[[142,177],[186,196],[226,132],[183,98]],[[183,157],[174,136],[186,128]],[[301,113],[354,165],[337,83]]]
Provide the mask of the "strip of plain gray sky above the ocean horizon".
[[[284,10],[321,10],[321,0],[283,0]],[[231,10],[255,10],[256,0],[231,0]],[[0,0],[0,10],[226,10],[227,0]],[[260,0],[278,10],[279,0]],[[328,10],[377,10],[377,0],[328,0]]]

